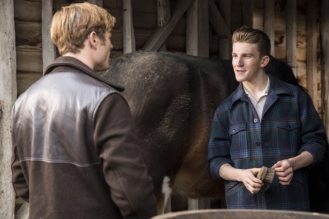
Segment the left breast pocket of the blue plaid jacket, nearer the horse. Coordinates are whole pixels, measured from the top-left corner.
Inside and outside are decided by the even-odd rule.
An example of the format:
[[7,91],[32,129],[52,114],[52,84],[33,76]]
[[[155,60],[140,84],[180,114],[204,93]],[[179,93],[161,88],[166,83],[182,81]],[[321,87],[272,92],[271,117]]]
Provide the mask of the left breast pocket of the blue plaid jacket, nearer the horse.
[[231,137],[231,159],[248,157],[247,122],[233,123],[229,133]]

